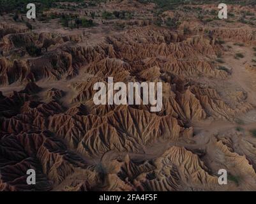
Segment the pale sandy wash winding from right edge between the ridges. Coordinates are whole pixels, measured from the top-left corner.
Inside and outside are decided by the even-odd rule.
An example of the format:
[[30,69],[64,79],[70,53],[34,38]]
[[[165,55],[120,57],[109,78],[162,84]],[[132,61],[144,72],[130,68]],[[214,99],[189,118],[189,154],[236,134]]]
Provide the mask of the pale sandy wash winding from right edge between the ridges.
[[[253,87],[253,78],[250,72],[245,69],[246,63],[251,63],[254,55],[252,47],[239,47],[234,45],[233,42],[227,43],[227,45],[232,46],[228,52],[225,52],[223,55],[223,61],[225,63],[221,64],[226,66],[229,69],[232,69],[232,75],[227,80],[222,80],[222,82],[215,82],[218,84],[218,88],[227,89],[227,92],[230,94],[230,90],[232,92],[243,91],[246,92],[247,98],[245,101],[247,103],[252,104],[256,107],[256,90]],[[238,52],[245,54],[243,59],[235,59],[234,55]],[[212,83],[212,82],[211,82]],[[215,84],[214,83],[214,84]],[[222,90],[225,92],[225,90]],[[232,98],[227,96],[227,102],[232,103]],[[144,161],[145,159],[154,159],[159,157],[171,146],[179,146],[186,147],[186,149],[192,151],[200,151],[205,150],[206,146],[209,143],[213,142],[211,140],[215,139],[215,136],[228,136],[229,134],[237,135],[235,138],[236,145],[243,145],[244,140],[250,141],[250,143],[256,144],[256,138],[253,138],[250,135],[250,130],[256,128],[256,108],[247,112],[245,114],[237,115],[237,119],[239,122],[229,122],[227,120],[213,120],[211,118],[203,121],[203,122],[194,122],[191,124],[194,128],[194,136],[191,139],[186,141],[178,141],[178,142],[168,142],[162,141],[158,143],[154,143],[149,147],[145,147],[141,150],[141,152],[137,154],[129,154],[129,156],[135,161]],[[241,133],[238,133],[237,128],[241,128]],[[238,134],[237,134],[238,133]],[[234,139],[234,138],[233,138]],[[125,155],[126,153],[124,153]],[[117,157],[120,154],[116,152],[107,152],[102,157],[102,163],[107,163],[112,158]],[[214,155],[212,155],[214,157]],[[209,158],[208,158],[209,159]],[[218,169],[218,164],[215,164],[213,161],[207,159],[203,159],[209,166],[213,169]]]

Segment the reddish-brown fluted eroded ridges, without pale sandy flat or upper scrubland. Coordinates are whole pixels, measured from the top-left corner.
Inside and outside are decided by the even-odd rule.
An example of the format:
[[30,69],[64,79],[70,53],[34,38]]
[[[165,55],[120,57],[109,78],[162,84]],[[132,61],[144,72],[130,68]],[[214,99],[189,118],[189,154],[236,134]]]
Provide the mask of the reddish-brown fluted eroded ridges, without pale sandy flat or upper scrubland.
[[[253,109],[243,91],[231,106],[214,83],[204,83],[231,75],[212,62],[223,52],[215,40],[252,42],[253,31],[185,34],[150,20],[134,24],[144,27],[106,34],[90,45],[79,34],[1,25],[0,191],[255,189],[255,142],[243,139],[241,148],[230,135],[210,129],[196,135],[193,128],[206,120],[234,122]],[[29,55],[29,44],[41,53]],[[13,59],[16,52],[21,55]],[[93,86],[107,84],[108,77],[126,86],[162,82],[162,110],[95,105]],[[243,184],[218,185],[218,168],[232,170],[232,164]],[[29,168],[36,170],[35,186],[26,184]]]

